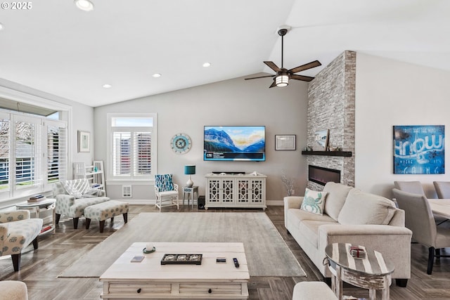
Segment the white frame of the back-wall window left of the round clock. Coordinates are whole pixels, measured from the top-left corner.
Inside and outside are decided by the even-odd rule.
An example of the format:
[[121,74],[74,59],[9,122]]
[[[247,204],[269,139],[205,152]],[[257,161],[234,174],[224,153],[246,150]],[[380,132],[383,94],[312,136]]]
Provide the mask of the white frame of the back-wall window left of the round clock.
[[[142,127],[142,126],[113,126],[114,118],[151,118],[153,119],[152,127]],[[158,173],[158,114],[156,113],[108,113],[107,114],[107,153],[109,153],[108,157],[108,174],[106,174],[107,181],[114,181],[117,183],[130,183],[130,182],[143,182],[146,183],[153,182],[155,174]],[[150,129],[150,130],[149,130]],[[147,131],[146,131],[147,130]],[[150,159],[151,159],[151,172],[148,175],[134,175],[133,167],[131,167],[131,172],[128,175],[114,175],[113,174],[113,165],[114,165],[114,156],[113,156],[113,134],[115,132],[131,132],[131,133],[139,133],[139,132],[150,132],[151,133],[151,150],[150,150]],[[131,134],[131,139],[133,139],[133,134]],[[131,152],[134,150],[131,149]],[[134,164],[134,158],[131,155],[131,166]]]

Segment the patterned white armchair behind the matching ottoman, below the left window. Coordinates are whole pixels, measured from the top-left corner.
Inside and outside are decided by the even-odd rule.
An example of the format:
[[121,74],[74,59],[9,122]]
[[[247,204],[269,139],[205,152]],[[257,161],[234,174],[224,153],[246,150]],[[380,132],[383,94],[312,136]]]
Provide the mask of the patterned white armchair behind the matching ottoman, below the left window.
[[60,181],[53,185],[55,203],[55,223],[58,224],[61,215],[73,218],[73,228],[78,228],[79,217],[84,215],[84,209],[90,205],[110,200],[105,197],[104,190],[93,189],[86,178]]

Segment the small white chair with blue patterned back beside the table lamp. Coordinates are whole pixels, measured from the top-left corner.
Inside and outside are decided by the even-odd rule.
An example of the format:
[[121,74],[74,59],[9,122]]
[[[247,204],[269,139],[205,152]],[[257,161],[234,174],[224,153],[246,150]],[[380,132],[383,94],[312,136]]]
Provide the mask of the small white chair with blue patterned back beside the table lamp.
[[172,181],[172,174],[155,175],[155,207],[176,205],[179,209],[178,185]]

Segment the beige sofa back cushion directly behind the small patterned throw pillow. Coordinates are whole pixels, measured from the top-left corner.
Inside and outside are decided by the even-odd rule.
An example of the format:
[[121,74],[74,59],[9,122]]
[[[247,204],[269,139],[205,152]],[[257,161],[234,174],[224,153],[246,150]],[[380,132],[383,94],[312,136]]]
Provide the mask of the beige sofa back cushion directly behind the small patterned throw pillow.
[[323,192],[328,193],[323,212],[328,214],[335,221],[338,221],[339,213],[344,206],[345,199],[349,191],[353,188],[340,183],[328,182],[323,188]]

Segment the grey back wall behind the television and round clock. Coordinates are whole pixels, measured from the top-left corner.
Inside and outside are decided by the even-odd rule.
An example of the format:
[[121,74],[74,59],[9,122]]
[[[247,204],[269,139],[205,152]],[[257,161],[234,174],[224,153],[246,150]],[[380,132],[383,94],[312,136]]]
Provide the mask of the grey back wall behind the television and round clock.
[[[306,185],[305,157],[301,150],[307,137],[307,83],[292,81],[287,88],[269,89],[271,79],[244,81],[243,78],[220,81],[191,89],[163,93],[96,107],[94,110],[95,157],[105,162],[108,197],[120,199],[122,185],[108,181],[106,153],[106,116],[108,112],[158,113],[158,173],[174,174],[175,183],[184,185],[185,164],[195,164],[194,184],[205,195],[205,174],[211,171],[257,171],[267,178],[266,199],[283,200],[286,194],[281,182],[282,171],[295,178],[295,195],[303,195]],[[204,162],[203,126],[265,125],[266,162]],[[170,148],[176,133],[187,133],[191,150],[177,155]],[[297,135],[297,150],[274,150],[276,134]],[[153,200],[153,185],[133,183],[132,200]]]

